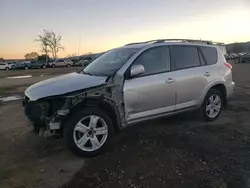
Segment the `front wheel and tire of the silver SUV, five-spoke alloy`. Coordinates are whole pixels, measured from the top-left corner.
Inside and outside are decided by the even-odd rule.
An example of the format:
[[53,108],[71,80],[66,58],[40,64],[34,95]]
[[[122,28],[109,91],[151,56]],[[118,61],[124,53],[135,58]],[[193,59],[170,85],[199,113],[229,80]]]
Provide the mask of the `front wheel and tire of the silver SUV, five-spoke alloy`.
[[[95,122],[95,120],[97,120],[97,123],[90,123]],[[64,138],[69,149],[81,157],[94,157],[104,152],[113,136],[114,127],[111,119],[98,108],[84,108],[82,111],[76,111],[69,117],[64,127]]]

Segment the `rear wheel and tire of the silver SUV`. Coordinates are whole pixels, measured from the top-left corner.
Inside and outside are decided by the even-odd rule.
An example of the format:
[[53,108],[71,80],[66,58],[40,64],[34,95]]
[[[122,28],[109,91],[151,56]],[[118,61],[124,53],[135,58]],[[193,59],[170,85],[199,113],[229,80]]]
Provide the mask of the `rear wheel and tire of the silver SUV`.
[[[214,103],[212,103],[212,100],[214,100]],[[218,102],[216,102],[216,100],[218,100]],[[219,90],[210,89],[201,107],[203,118],[209,122],[216,120],[223,109],[223,101],[223,95]]]

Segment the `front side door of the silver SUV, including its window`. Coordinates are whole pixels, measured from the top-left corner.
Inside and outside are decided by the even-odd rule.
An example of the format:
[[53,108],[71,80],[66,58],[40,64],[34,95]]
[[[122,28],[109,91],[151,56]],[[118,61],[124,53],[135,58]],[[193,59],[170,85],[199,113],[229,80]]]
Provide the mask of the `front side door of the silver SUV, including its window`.
[[169,47],[144,51],[132,65],[139,64],[144,66],[145,72],[124,83],[128,122],[175,110],[175,83],[171,80]]

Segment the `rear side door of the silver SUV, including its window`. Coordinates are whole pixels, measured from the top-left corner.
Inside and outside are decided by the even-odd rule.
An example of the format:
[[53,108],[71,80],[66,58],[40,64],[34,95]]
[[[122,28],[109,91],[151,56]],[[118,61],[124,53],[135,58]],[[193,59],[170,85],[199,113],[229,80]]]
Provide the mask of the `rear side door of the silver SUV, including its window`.
[[176,110],[195,107],[208,85],[205,61],[196,46],[173,45]]

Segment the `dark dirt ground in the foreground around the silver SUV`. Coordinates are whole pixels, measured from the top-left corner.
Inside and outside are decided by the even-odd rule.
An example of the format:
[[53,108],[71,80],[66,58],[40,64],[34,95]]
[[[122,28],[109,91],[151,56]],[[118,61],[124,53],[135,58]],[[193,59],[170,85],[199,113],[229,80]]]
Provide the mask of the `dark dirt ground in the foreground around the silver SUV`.
[[0,106],[0,187],[250,188],[250,64],[233,66],[235,95],[215,122],[149,121],[91,159],[33,135],[18,102]]

